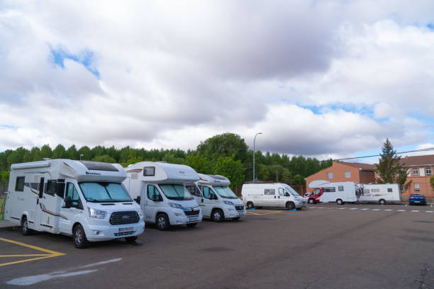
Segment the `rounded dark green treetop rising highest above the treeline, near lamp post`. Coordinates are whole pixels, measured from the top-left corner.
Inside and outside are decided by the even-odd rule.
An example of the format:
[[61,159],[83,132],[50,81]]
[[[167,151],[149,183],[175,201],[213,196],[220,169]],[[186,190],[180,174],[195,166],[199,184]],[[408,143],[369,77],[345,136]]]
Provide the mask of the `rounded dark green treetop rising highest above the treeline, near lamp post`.
[[239,135],[226,132],[201,142],[197,146],[197,152],[204,154],[208,159],[234,156],[235,161],[244,162],[247,157],[247,145]]

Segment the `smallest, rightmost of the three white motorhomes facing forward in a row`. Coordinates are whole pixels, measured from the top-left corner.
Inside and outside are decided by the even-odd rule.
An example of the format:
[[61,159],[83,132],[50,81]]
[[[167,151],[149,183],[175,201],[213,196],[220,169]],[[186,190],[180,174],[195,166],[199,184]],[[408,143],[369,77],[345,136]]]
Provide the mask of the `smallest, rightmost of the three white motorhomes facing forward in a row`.
[[199,203],[204,217],[221,222],[225,218],[239,220],[245,215],[245,206],[229,188],[228,178],[206,174],[199,174],[199,178],[196,183],[187,183],[186,188]]

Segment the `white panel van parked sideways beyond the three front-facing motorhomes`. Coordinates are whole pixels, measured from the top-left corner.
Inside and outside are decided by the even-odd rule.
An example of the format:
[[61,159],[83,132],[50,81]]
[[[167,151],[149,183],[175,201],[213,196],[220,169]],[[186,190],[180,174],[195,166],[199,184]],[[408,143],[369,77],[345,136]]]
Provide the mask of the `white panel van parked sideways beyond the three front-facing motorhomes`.
[[247,209],[279,207],[292,210],[306,208],[306,200],[286,183],[245,183],[241,189]]

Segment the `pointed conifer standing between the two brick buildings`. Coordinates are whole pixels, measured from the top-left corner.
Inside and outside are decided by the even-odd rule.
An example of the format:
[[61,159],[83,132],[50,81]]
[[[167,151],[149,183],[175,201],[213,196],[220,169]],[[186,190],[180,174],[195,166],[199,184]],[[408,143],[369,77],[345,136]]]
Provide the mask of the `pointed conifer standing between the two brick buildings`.
[[383,144],[379,162],[374,164],[378,175],[377,183],[399,183],[401,188],[406,191],[411,181],[406,183],[407,169],[404,168],[405,164],[400,164],[400,160],[401,157],[398,157],[394,146],[391,145],[389,138],[387,138]]

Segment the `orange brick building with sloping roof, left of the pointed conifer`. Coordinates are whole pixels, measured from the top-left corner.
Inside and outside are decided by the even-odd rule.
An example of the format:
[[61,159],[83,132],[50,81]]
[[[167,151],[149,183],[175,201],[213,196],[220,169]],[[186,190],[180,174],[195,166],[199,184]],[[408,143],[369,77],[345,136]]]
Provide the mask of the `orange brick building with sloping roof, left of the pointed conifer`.
[[353,181],[355,183],[374,183],[374,168],[372,164],[334,162],[327,169],[306,177],[306,186],[311,181],[325,180],[333,183],[340,181]]

